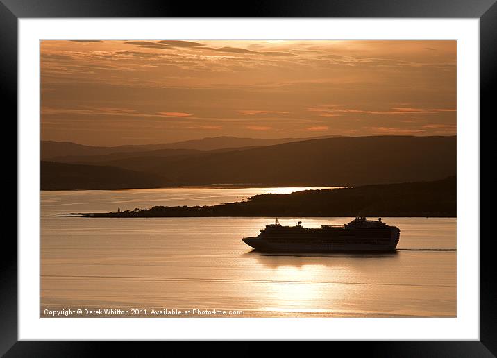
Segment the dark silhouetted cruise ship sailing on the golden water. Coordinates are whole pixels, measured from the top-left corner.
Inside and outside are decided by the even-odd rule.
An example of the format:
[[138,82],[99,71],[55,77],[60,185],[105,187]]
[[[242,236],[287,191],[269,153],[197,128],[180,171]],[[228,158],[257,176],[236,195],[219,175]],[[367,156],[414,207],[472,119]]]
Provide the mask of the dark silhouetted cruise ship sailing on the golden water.
[[244,237],[245,244],[258,251],[395,251],[401,230],[382,221],[356,217],[344,225],[304,228],[276,223],[266,225],[257,237]]

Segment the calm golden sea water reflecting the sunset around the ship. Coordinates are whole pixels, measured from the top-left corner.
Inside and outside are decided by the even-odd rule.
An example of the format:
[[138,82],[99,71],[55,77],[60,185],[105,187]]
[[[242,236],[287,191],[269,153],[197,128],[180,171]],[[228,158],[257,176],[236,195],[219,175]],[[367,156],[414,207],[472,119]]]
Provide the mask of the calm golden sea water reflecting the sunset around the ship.
[[[49,216],[208,205],[295,190],[43,191],[40,314],[115,309],[104,315],[164,317],[180,311],[210,317],[224,310],[224,316],[237,317],[455,316],[456,219],[384,218],[401,229],[397,253],[267,255],[253,252],[242,237],[258,235],[274,218]],[[278,219],[283,225],[301,220],[305,227],[351,220]]]

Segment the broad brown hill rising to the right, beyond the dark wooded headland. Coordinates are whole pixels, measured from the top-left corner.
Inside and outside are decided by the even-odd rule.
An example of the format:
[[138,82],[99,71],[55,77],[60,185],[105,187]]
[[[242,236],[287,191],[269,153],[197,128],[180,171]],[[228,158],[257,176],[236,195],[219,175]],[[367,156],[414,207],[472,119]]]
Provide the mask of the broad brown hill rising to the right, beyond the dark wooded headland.
[[164,176],[176,185],[411,182],[455,175],[456,137],[312,139],[201,155],[138,155],[103,163]]

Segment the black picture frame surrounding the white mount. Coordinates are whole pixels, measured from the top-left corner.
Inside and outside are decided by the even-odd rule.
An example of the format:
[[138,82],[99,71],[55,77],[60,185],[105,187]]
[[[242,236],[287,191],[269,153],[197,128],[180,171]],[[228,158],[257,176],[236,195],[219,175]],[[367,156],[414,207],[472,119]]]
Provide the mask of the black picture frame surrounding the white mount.
[[[250,3],[195,4],[183,1],[149,0],[0,0],[0,89],[3,110],[17,118],[17,22],[22,18],[60,17],[382,17],[382,18],[478,18],[480,19],[480,118],[491,119],[497,78],[496,0],[278,0]],[[495,115],[493,116],[495,117]],[[9,119],[10,120],[10,119]],[[475,119],[476,120],[476,119]],[[481,119],[480,119],[481,123]],[[14,129],[17,133],[17,126]],[[11,151],[11,147],[10,147]],[[17,173],[17,170],[16,170]],[[17,178],[19,179],[19,178]],[[8,185],[17,187],[15,177]],[[480,341],[382,341],[328,342],[347,355],[379,357],[495,357],[497,355],[496,260],[493,237],[480,240]],[[144,355],[145,343],[18,341],[17,339],[17,241],[3,237],[0,298],[0,354],[5,357],[87,357],[105,349],[112,355]],[[150,344],[150,343],[147,343]],[[159,346],[164,343],[153,343]],[[171,344],[171,343],[169,343]],[[260,343],[243,343],[237,355],[256,355]],[[288,347],[292,348],[290,344]],[[147,347],[149,348],[149,347]],[[219,344],[208,353],[219,354]],[[198,347],[181,348],[183,355]],[[319,349],[315,347],[314,349]],[[136,355],[134,354],[136,352]],[[332,351],[330,351],[332,352]]]

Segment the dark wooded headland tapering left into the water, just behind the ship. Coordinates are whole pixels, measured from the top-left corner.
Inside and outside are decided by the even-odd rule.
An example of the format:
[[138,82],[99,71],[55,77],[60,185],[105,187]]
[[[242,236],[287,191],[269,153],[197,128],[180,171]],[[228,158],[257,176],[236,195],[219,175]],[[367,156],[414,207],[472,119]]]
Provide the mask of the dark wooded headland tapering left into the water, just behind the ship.
[[344,189],[262,194],[248,201],[203,207],[155,206],[149,210],[81,213],[87,217],[185,216],[432,216],[457,215],[455,176],[432,182],[366,185]]

